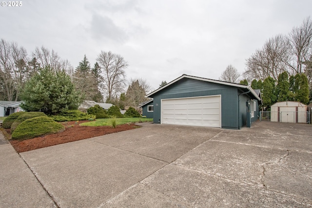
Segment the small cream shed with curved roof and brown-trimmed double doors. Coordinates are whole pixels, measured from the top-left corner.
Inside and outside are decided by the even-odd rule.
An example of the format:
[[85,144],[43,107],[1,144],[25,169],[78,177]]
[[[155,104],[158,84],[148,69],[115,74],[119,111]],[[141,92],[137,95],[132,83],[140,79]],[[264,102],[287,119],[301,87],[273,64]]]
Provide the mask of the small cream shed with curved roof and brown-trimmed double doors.
[[271,106],[271,121],[307,123],[307,106],[301,102],[277,102]]

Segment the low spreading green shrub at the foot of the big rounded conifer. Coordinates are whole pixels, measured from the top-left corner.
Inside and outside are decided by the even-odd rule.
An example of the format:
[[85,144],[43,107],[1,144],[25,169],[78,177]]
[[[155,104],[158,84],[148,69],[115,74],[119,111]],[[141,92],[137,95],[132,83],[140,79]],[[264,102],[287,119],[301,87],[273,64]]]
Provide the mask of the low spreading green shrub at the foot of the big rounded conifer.
[[63,111],[58,115],[52,115],[51,118],[57,122],[62,121],[84,121],[89,119],[96,119],[95,115],[83,113],[78,110],[71,110],[71,111]]

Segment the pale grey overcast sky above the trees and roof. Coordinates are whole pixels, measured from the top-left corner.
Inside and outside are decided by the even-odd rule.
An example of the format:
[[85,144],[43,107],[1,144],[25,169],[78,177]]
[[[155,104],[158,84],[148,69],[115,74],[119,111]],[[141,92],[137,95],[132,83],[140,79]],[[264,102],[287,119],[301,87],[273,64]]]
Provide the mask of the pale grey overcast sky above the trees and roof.
[[157,89],[182,74],[219,79],[229,64],[244,72],[256,49],[311,8],[312,0],[23,0],[0,7],[0,38],[29,54],[53,49],[74,68],[112,51],[128,61],[127,79]]

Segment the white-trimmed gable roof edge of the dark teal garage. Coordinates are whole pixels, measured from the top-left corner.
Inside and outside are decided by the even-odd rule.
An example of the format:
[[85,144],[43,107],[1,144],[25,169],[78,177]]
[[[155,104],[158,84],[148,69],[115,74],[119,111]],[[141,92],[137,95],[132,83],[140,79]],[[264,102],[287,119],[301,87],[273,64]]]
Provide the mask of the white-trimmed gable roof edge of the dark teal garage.
[[240,88],[246,92],[250,92],[252,95],[254,95],[254,97],[257,100],[261,100],[261,98],[258,96],[258,94],[256,92],[254,92],[254,90],[251,86],[242,85],[242,84],[235,84],[235,83],[225,82],[225,81],[219,81],[219,80],[215,80],[215,79],[202,78],[202,77],[198,77],[198,76],[190,76],[190,75],[182,75],[182,76],[176,78],[175,80],[169,82],[168,84],[164,85],[161,88],[158,88],[157,90],[155,90],[154,92],[152,92],[146,96],[150,97],[150,96],[158,93],[159,91],[165,89],[166,87],[169,87],[170,85],[176,83],[177,81],[179,81],[183,78],[190,78],[190,79],[195,79],[195,80],[200,80],[200,81],[206,81],[206,82],[211,82],[211,83],[216,83],[216,84],[223,84],[223,85],[228,85],[228,86],[232,86],[232,87],[237,87],[237,88]]

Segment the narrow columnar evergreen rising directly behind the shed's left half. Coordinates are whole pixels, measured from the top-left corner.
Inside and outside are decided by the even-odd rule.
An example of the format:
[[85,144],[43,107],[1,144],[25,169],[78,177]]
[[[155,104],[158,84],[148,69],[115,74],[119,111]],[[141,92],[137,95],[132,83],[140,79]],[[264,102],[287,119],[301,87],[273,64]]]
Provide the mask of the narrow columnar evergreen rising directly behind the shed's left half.
[[276,85],[276,95],[277,95],[277,101],[287,101],[289,100],[289,79],[287,72],[281,73],[277,78],[277,85]]

